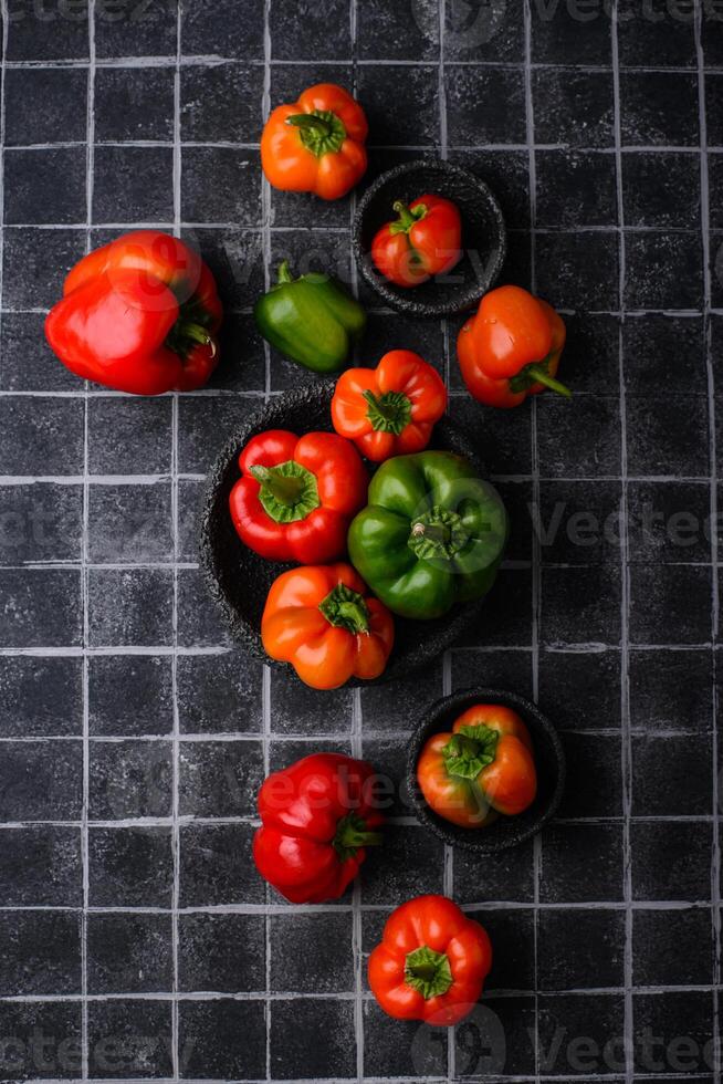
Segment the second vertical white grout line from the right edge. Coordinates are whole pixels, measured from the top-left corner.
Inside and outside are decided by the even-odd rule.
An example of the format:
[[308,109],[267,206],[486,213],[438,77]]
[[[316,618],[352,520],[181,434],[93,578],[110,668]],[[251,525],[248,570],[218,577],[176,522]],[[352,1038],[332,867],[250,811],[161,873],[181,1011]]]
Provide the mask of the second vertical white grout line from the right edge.
[[624,1032],[625,1032],[625,1061],[626,1061],[626,1082],[632,1084],[635,1075],[635,1010],[633,1010],[633,971],[632,971],[632,846],[630,838],[632,821],[632,746],[630,740],[630,686],[628,673],[628,646],[629,646],[629,613],[630,613],[630,562],[629,562],[629,541],[628,541],[628,445],[627,445],[627,413],[626,413],[626,386],[625,386],[625,357],[622,329],[625,325],[625,285],[626,285],[626,239],[625,239],[625,206],[622,190],[622,157],[620,147],[621,137],[621,112],[620,112],[620,65],[618,56],[618,0],[614,0],[610,18],[610,43],[612,53],[612,97],[614,97],[614,131],[616,147],[616,190],[619,227],[619,279],[618,279],[618,304],[620,308],[621,320],[618,332],[618,364],[619,364],[619,389],[620,389],[620,718],[621,718],[621,762],[622,773],[622,894],[626,904],[625,920],[625,950],[624,950],[624,977],[625,977],[625,1011],[624,1011]]

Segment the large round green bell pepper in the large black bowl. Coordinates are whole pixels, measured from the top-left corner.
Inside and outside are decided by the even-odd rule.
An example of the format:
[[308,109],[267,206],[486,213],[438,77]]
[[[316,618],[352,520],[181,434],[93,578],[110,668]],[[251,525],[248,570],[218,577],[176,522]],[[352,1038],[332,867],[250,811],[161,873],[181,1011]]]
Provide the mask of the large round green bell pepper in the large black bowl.
[[353,565],[381,602],[425,619],[489,592],[506,536],[493,487],[460,456],[421,451],[379,467],[347,542]]

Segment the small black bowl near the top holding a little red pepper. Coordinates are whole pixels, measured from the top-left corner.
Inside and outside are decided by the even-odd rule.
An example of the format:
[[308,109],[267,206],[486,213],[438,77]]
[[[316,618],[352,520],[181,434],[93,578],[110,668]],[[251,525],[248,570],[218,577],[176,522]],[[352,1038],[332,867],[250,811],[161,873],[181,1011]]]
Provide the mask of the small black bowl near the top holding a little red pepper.
[[[464,254],[449,274],[407,290],[385,279],[369,250],[377,230],[397,217],[395,201],[408,204],[425,192],[459,207]],[[486,293],[502,270],[507,238],[500,205],[484,181],[441,158],[429,158],[396,166],[367,188],[354,220],[352,247],[362,274],[385,304],[411,316],[440,317],[471,309]]]

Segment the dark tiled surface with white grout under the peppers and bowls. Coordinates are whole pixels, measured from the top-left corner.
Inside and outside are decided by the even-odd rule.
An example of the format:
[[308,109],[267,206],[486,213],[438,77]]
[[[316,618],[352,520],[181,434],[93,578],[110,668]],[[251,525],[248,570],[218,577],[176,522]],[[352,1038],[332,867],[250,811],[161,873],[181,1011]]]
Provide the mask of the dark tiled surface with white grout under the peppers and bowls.
[[[93,33],[85,0],[8,8],[0,1075],[714,1084],[715,4],[618,0],[611,24],[602,4],[534,0],[95,0]],[[226,432],[307,378],[253,330],[263,253],[352,281],[354,200],[260,178],[265,104],[321,79],[367,108],[369,177],[441,150],[499,192],[505,279],[564,311],[577,393],[486,410],[463,392],[458,322],[370,314],[360,356],[407,346],[448,377],[514,534],[464,644],[407,682],[323,696],[230,648],[196,567]],[[230,310],[209,390],[178,403],[85,396],[43,342],[86,241],[137,223],[176,226]],[[420,711],[481,682],[538,698],[570,765],[557,821],[483,863],[409,823],[400,785]],[[396,823],[354,896],[300,911],[250,862],[253,799],[316,749],[386,771]],[[367,991],[384,920],[419,892],[454,895],[495,947],[453,1036]]]

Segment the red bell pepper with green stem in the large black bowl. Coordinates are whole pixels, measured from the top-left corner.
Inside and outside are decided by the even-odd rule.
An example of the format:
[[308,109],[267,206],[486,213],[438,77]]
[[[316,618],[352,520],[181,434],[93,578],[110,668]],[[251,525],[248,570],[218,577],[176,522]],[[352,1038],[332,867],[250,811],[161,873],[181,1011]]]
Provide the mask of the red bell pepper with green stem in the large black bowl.
[[353,444],[334,432],[286,429],[253,437],[239,456],[229,504],[237,533],[271,561],[323,564],[346,552],[368,478]]

